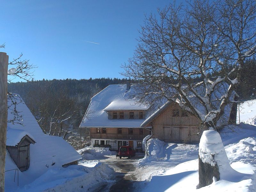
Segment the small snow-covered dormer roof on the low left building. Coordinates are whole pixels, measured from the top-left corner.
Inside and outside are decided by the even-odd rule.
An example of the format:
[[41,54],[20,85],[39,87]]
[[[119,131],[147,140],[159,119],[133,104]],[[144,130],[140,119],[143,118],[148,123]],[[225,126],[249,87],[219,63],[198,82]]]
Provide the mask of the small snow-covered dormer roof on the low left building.
[[21,129],[11,129],[8,127],[6,135],[6,146],[17,146],[26,135],[35,141],[34,137],[30,133]]

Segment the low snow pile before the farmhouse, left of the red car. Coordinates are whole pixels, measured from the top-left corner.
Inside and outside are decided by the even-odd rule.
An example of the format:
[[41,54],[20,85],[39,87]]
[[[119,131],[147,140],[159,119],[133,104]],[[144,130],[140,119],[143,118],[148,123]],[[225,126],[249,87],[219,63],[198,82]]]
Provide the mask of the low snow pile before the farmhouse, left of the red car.
[[96,160],[96,159],[102,159],[105,158],[105,155],[115,155],[115,151],[109,151],[109,148],[102,148],[98,149],[97,151],[95,149],[88,149],[83,148],[77,151],[83,159],[86,160]]

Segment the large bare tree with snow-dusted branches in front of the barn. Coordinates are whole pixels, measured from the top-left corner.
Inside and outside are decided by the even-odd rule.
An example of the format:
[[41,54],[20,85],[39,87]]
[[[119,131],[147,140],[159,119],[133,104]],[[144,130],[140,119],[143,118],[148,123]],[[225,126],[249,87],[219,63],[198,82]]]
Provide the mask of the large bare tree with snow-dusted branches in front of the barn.
[[216,130],[225,107],[236,102],[245,59],[256,53],[255,6],[195,0],[147,17],[134,56],[123,65],[124,76],[141,82],[138,102],[175,100]]

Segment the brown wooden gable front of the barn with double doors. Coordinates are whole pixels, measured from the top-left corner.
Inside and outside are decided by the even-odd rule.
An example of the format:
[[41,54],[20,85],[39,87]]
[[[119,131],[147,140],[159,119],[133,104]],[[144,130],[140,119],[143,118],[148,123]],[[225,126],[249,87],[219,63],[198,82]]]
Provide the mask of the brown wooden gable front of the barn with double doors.
[[151,126],[152,137],[166,142],[198,143],[202,135],[202,132],[196,134],[201,128],[200,120],[174,102],[152,120]]

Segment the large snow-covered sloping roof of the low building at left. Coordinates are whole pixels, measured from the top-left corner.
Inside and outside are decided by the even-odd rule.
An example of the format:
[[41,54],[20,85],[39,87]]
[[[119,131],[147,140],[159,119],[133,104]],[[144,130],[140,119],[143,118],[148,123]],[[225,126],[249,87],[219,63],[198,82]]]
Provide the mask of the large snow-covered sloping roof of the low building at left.
[[[76,150],[61,137],[45,135],[37,124],[36,119],[20,98],[15,96],[17,101],[16,110],[22,115],[22,124],[8,123],[7,127],[7,144],[15,144],[20,138],[28,135],[36,141],[34,145],[30,145],[30,166],[28,170],[21,172],[19,178],[21,185],[31,182],[31,178],[38,178],[51,168],[62,168],[62,165],[68,164],[81,159]],[[21,101],[21,102],[19,102]],[[11,101],[8,100],[10,106]],[[8,120],[13,118],[12,108],[8,109]],[[15,138],[14,136],[18,136]],[[9,153],[6,153],[5,170],[17,169],[16,164],[12,161]],[[5,178],[13,178],[13,172],[6,172]],[[29,178],[29,179],[28,179]],[[10,183],[9,183],[10,182]],[[13,185],[13,179],[6,179],[5,185]]]

